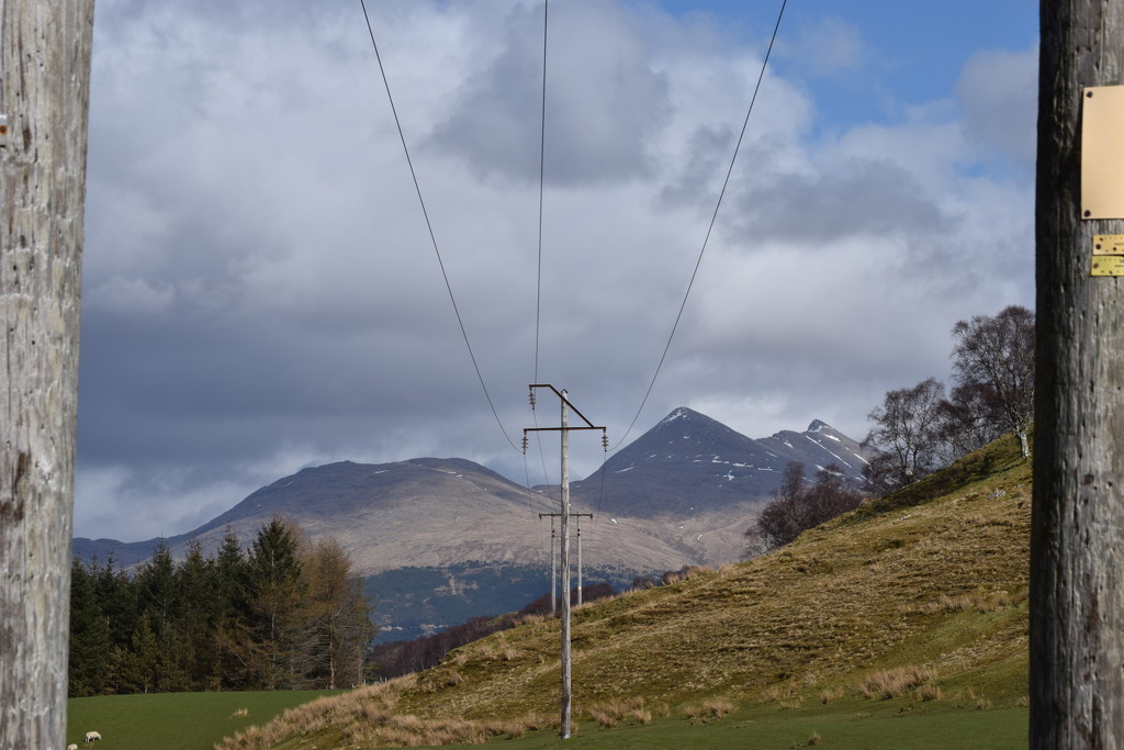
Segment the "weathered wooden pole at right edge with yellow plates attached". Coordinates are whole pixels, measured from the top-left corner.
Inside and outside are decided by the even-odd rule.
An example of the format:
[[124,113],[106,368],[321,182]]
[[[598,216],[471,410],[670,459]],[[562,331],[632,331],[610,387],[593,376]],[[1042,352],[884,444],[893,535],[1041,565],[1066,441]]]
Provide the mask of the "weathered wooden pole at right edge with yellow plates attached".
[[1093,275],[1124,260],[1094,254],[1124,210],[1082,187],[1118,169],[1082,128],[1114,93],[1087,88],[1124,83],[1124,9],[1042,0],[1040,20],[1030,738],[1124,748],[1124,279]]

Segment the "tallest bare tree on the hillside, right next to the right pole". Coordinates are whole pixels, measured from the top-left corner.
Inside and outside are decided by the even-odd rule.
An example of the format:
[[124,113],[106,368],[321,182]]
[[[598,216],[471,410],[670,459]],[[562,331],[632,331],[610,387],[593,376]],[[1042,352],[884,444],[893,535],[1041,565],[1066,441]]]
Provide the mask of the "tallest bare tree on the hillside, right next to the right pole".
[[961,386],[990,389],[1005,426],[1031,454],[1034,419],[1034,313],[1012,305],[995,317],[977,315],[952,328],[952,369]]

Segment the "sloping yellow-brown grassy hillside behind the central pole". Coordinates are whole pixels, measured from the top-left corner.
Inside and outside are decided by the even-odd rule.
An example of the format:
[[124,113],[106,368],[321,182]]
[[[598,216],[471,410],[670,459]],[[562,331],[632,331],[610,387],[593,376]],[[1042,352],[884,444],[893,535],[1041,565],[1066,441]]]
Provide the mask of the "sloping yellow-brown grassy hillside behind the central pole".
[[[1030,462],[1008,439],[773,554],[579,609],[575,715],[636,732],[727,714],[1017,717],[1030,498]],[[555,720],[558,643],[556,622],[532,622],[415,677],[303,706],[229,747],[520,735]]]

